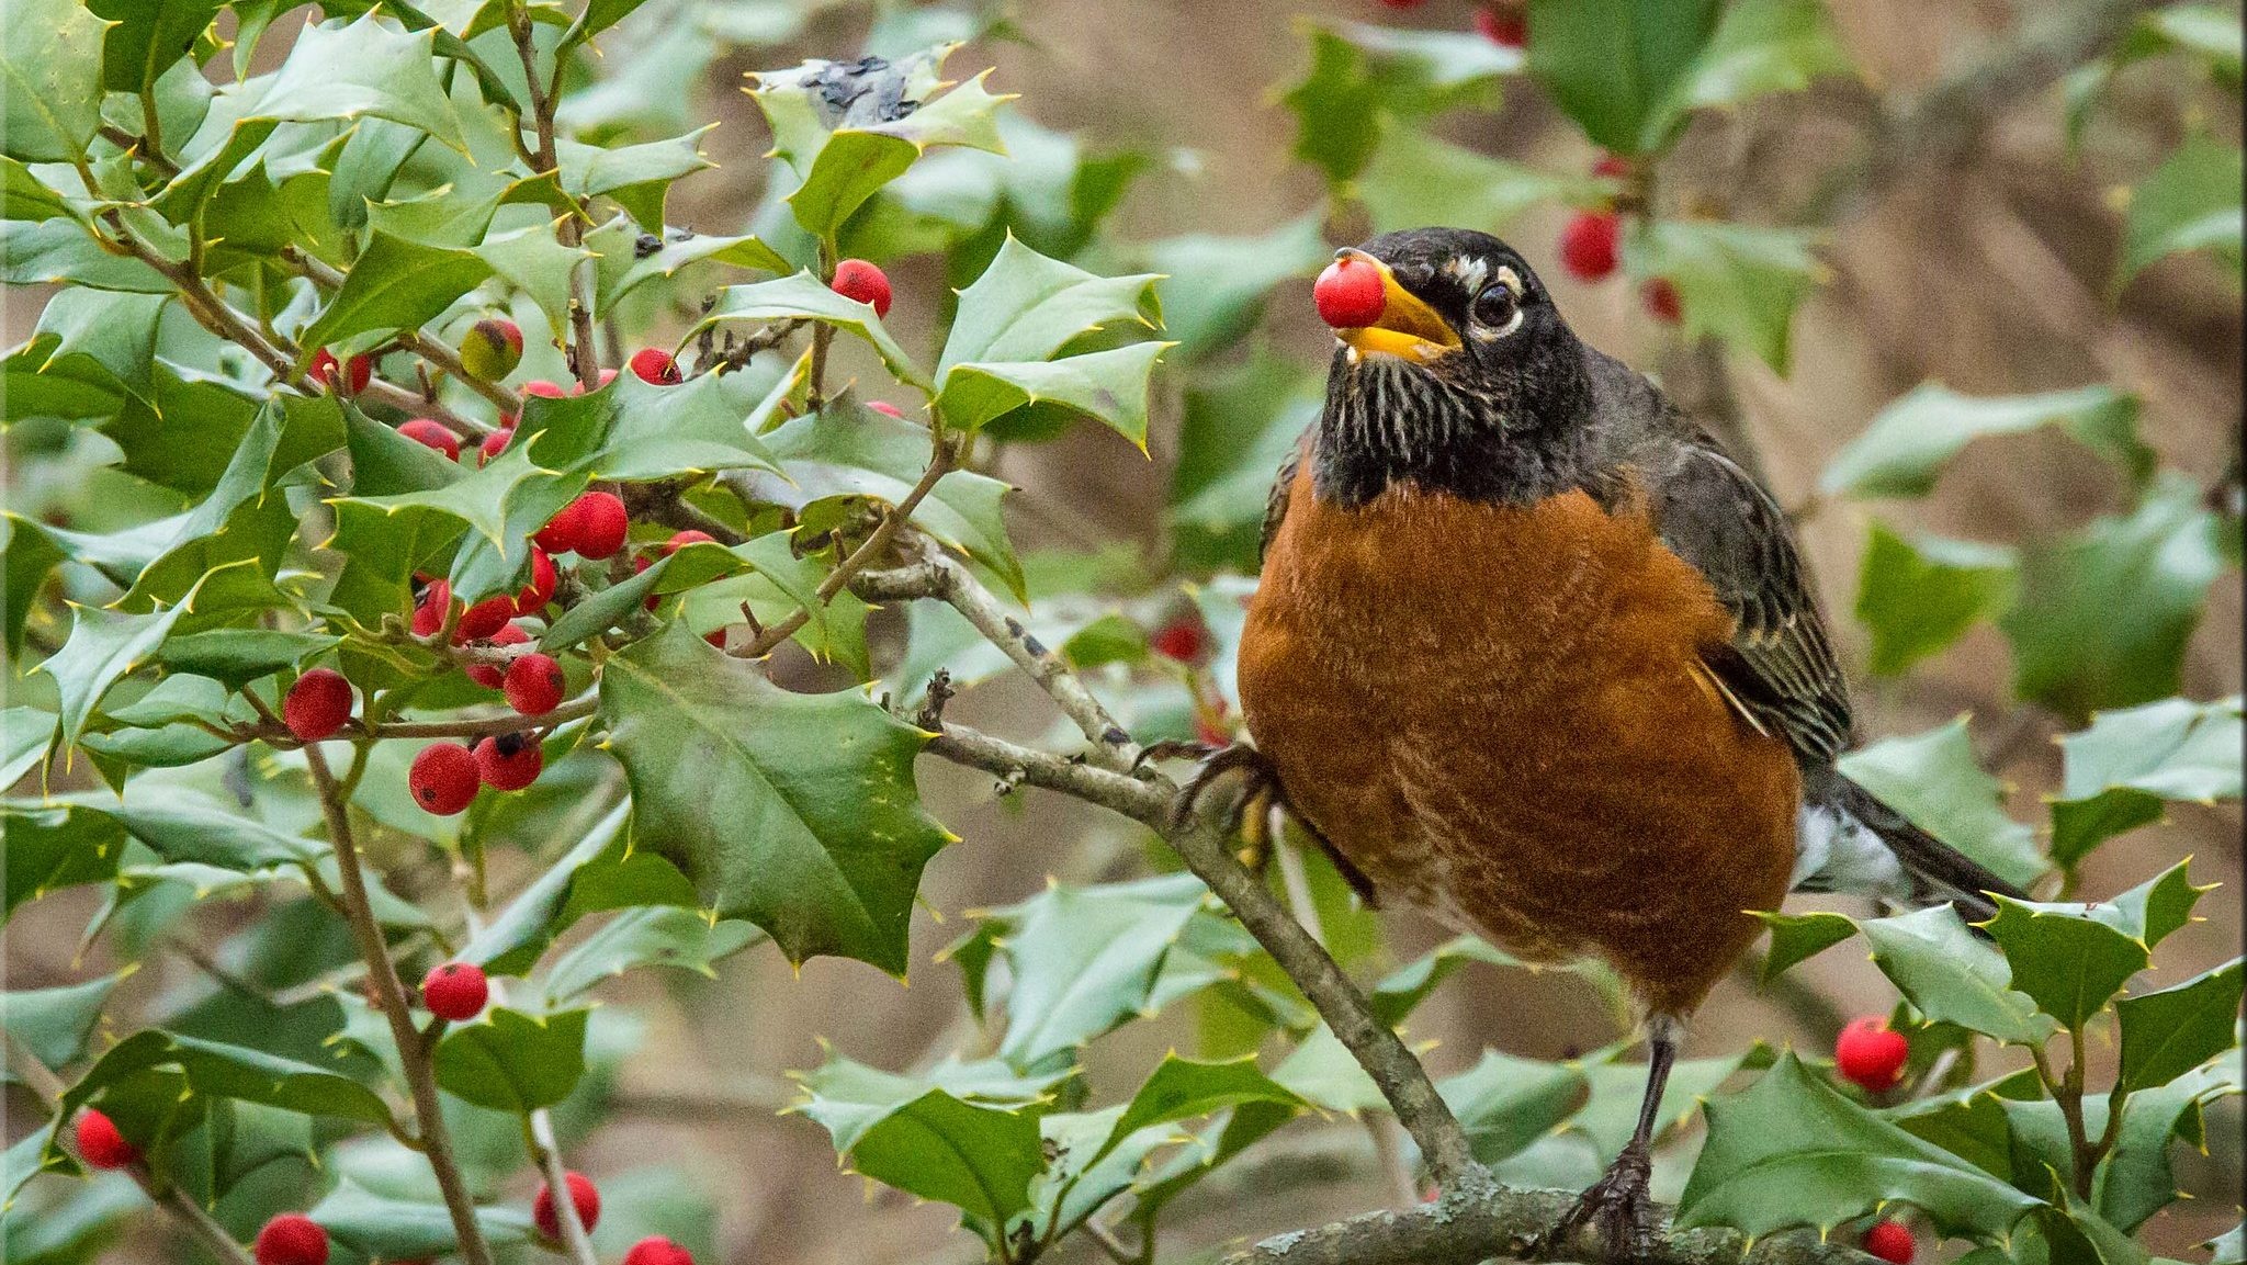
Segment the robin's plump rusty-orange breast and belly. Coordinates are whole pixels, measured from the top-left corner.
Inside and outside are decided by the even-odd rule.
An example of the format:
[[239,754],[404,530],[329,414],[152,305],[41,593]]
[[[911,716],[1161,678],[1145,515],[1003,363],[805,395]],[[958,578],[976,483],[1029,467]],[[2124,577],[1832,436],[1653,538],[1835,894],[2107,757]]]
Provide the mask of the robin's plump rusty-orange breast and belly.
[[1777,908],[1800,780],[1701,665],[1730,636],[1638,512],[1393,488],[1265,550],[1240,703],[1290,802],[1384,894],[1526,959],[1600,955],[1683,1016]]

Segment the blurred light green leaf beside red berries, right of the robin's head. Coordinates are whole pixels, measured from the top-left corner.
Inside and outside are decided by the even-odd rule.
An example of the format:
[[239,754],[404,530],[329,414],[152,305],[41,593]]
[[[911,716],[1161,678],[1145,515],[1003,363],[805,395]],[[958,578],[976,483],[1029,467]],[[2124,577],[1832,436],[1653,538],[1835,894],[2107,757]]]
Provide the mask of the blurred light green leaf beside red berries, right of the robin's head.
[[[1679,11],[1692,7],[1676,4]],[[1786,373],[1795,308],[1827,272],[1809,245],[1809,236],[1791,229],[1652,220],[1634,227],[1622,263],[1636,279],[1663,276],[1676,285],[1687,337],[1708,335],[1753,351]]]

